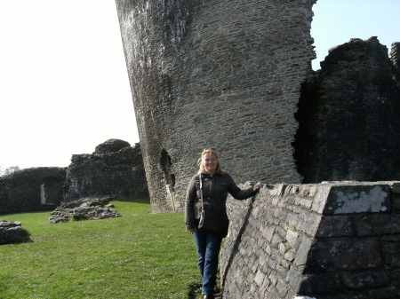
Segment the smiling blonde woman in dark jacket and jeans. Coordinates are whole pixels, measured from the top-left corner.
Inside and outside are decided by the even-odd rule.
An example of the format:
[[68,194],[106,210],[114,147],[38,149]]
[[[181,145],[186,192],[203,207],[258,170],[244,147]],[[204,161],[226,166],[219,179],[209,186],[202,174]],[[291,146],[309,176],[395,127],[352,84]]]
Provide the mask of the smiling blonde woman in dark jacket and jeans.
[[[202,179],[202,184],[200,184],[200,179]],[[202,185],[201,190],[200,185]],[[193,233],[195,238],[204,299],[212,298],[222,238],[214,233],[198,229],[203,206],[205,211],[212,210],[221,217],[228,218],[226,207],[228,193],[236,200],[245,200],[255,195],[261,186],[259,182],[249,189],[241,190],[232,177],[220,169],[220,161],[215,149],[204,149],[200,169],[190,180],[185,201],[186,229]],[[201,191],[203,192],[203,204]]]

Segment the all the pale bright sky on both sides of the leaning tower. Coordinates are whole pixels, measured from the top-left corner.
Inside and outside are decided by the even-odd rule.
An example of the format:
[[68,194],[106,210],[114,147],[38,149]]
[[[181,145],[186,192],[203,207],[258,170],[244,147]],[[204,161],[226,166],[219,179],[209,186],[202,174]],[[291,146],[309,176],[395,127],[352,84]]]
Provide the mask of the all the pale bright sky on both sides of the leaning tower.
[[[350,38],[400,42],[400,0],[318,0],[318,68]],[[0,0],[0,165],[69,164],[109,138],[139,142],[114,0]]]

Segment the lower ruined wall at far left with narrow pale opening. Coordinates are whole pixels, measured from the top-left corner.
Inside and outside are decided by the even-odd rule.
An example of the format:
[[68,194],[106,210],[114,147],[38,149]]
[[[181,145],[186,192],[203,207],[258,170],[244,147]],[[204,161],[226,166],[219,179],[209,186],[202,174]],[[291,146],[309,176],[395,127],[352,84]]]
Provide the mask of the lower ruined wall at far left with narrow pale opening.
[[54,209],[62,201],[66,168],[22,169],[0,177],[0,214]]

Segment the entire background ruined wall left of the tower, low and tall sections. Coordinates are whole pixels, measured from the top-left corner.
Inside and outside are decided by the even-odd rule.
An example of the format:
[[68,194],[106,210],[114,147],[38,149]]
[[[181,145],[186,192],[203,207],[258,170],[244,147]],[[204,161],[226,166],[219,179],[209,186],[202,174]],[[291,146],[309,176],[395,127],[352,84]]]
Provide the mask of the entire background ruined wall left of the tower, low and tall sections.
[[140,145],[108,139],[73,154],[68,168],[22,169],[0,177],[0,215],[55,209],[84,197],[148,200]]

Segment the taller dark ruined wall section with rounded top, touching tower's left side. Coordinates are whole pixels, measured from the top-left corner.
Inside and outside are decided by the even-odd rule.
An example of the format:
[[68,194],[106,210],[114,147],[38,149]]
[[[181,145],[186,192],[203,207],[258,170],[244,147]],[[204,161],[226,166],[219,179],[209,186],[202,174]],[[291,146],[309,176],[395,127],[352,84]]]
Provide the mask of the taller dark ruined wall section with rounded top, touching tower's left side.
[[73,154],[64,184],[64,200],[117,196],[148,200],[140,145],[109,139],[94,153]]

